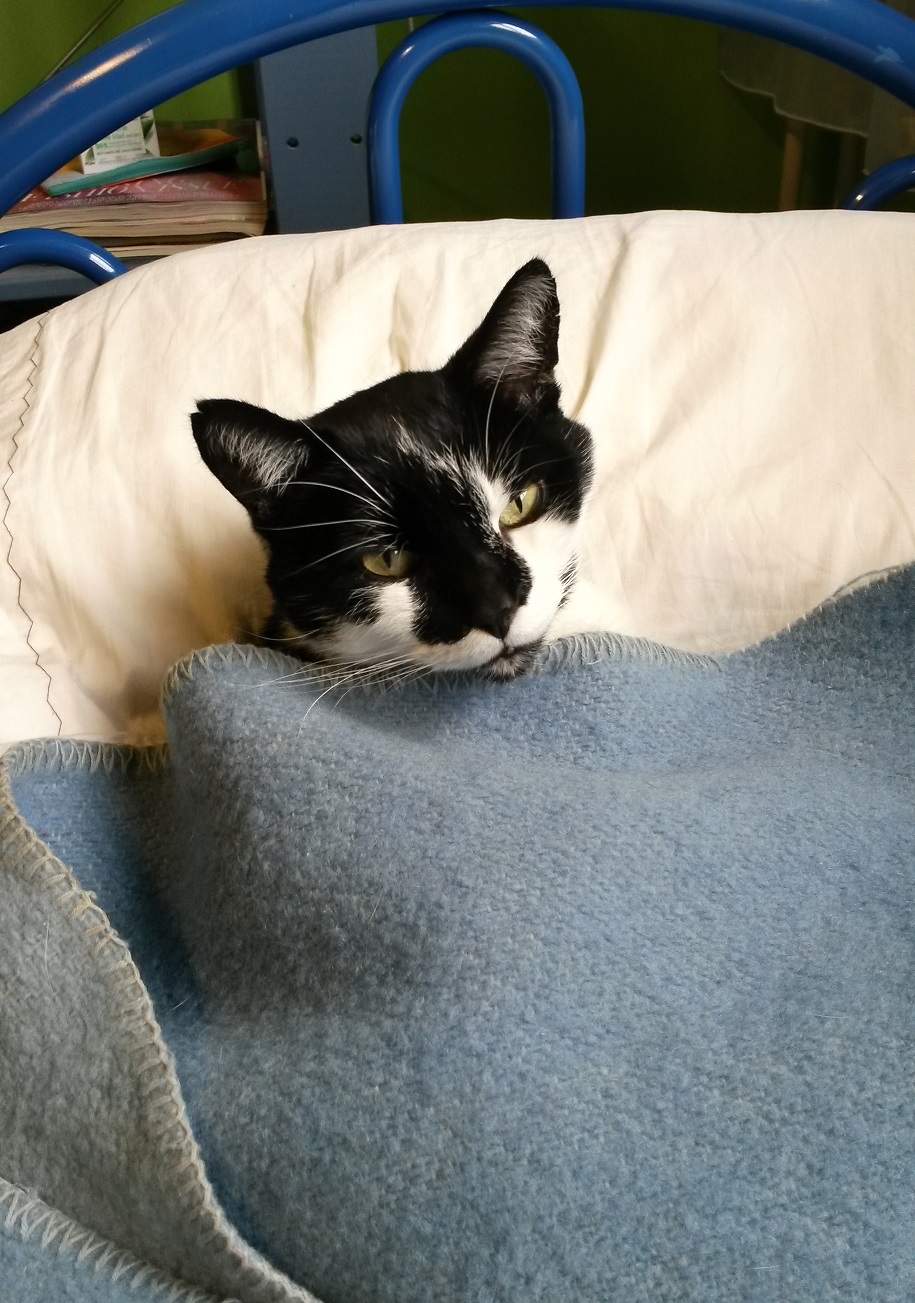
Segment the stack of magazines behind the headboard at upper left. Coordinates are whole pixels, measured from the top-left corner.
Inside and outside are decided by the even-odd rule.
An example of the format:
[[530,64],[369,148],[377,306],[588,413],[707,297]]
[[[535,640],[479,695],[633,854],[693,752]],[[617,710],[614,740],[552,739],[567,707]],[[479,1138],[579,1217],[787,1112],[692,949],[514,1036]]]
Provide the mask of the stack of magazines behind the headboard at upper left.
[[259,236],[267,222],[257,122],[160,122],[159,155],[85,173],[80,159],[0,218],[0,233],[70,231],[120,258]]

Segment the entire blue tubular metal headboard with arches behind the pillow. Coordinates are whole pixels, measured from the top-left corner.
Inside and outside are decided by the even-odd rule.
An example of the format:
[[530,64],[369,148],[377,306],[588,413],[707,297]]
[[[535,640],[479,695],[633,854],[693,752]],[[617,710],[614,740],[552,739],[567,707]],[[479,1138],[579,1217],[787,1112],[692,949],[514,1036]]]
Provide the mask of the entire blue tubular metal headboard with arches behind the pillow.
[[[529,7],[547,3],[529,0]],[[839,64],[915,108],[915,22],[880,0],[590,0],[590,7],[699,18],[772,36]],[[471,13],[460,0],[185,0],[72,64],[0,116],[0,212],[149,104],[291,46],[435,13],[442,17],[413,33],[375,82],[369,113],[373,220],[403,220],[398,128],[413,81],[448,51],[480,44],[515,55],[538,77],[550,106],[553,212],[579,215],[584,115],[575,74],[544,33],[493,10],[485,0]],[[877,207],[912,184],[915,158],[899,159],[872,173],[843,206]],[[63,232],[0,237],[0,271],[23,262],[72,267],[95,281],[126,270],[106,250]]]

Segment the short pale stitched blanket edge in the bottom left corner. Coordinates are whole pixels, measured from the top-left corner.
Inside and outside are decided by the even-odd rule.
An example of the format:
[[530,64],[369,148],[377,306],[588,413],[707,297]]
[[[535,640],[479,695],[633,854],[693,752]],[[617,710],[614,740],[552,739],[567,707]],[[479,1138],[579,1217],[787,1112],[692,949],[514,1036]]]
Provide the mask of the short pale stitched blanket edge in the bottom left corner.
[[158,1267],[145,1263],[129,1248],[119,1248],[109,1239],[80,1225],[57,1208],[50,1208],[36,1195],[22,1190],[21,1186],[10,1184],[3,1177],[0,1177],[0,1218],[4,1229],[17,1234],[25,1243],[33,1240],[40,1231],[42,1250],[46,1252],[50,1250],[55,1257],[74,1256],[73,1265],[86,1269],[91,1267],[96,1274],[104,1273],[112,1281],[123,1280],[134,1290],[145,1285],[169,1303],[218,1303],[223,1298],[194,1285],[184,1285],[173,1276],[160,1272]]

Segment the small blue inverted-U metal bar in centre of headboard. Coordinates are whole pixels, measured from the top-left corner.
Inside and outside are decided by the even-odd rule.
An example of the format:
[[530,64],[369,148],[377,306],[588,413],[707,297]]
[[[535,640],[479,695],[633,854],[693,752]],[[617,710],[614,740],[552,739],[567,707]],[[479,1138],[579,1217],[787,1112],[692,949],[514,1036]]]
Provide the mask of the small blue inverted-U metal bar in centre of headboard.
[[371,220],[404,220],[400,186],[400,113],[416,78],[443,55],[468,46],[501,50],[525,64],[550,108],[553,216],[584,216],[584,104],[575,72],[555,40],[508,14],[459,13],[411,33],[378,73],[369,100],[369,205]]

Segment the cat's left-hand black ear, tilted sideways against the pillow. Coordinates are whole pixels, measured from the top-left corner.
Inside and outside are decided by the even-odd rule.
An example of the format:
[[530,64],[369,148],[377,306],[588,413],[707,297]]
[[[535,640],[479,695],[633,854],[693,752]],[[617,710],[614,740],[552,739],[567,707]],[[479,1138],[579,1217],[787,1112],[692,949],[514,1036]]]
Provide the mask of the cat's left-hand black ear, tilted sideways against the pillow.
[[190,414],[201,457],[257,524],[308,459],[298,421],[235,399],[207,399]]

